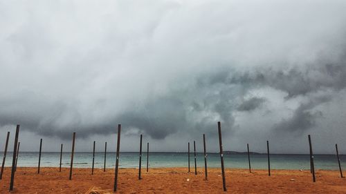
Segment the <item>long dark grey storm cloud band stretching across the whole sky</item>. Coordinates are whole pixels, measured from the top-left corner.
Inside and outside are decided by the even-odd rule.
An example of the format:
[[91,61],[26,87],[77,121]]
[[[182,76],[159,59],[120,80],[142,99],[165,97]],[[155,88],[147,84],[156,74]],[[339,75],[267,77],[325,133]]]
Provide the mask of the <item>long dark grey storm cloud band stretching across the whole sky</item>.
[[[233,128],[235,110],[255,110],[266,101],[263,97],[252,97],[237,102],[237,98],[244,98],[254,88],[271,87],[284,91],[288,94],[286,99],[299,95],[310,97],[319,91],[342,90],[346,86],[345,77],[346,68],[341,64],[319,65],[318,68],[304,72],[293,68],[286,72],[269,69],[239,73],[225,68],[210,75],[203,73],[194,81],[196,84],[189,85],[188,88],[172,89],[161,97],[143,100],[140,107],[127,106],[125,111],[113,114],[109,119],[92,123],[84,121],[82,113],[73,104],[46,101],[45,104],[52,104],[51,108],[37,109],[30,104],[39,104],[41,97],[22,93],[27,97],[26,101],[11,101],[16,101],[15,106],[23,106],[24,111],[14,113],[11,109],[15,107],[5,108],[6,111],[1,111],[0,124],[20,123],[26,129],[41,135],[69,139],[73,130],[80,132],[79,137],[88,137],[95,131],[104,135],[115,133],[115,126],[121,123],[124,128],[135,128],[138,133],[145,133],[154,139],[164,139],[178,131],[209,134],[210,129],[215,128],[215,123],[220,120],[227,126],[228,133]],[[311,109],[330,99],[332,98],[302,103],[294,110],[291,118],[283,119],[275,125],[275,129],[304,131],[312,128],[322,112],[313,112]],[[10,101],[2,102],[3,107],[11,104]],[[215,136],[215,133],[209,135]]]

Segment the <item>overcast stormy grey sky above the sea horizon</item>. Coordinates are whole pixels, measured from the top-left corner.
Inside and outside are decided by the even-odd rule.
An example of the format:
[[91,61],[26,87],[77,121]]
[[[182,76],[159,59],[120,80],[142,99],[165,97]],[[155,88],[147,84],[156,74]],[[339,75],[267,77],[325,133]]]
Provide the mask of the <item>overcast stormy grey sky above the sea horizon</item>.
[[346,153],[346,1],[0,0],[0,149]]

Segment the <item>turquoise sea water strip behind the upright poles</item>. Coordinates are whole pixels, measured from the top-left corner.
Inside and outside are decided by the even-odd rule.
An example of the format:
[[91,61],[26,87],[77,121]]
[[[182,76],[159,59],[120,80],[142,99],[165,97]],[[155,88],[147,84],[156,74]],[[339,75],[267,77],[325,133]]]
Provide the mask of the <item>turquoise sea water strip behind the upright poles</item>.
[[[0,153],[0,157],[3,153]],[[75,153],[73,166],[76,168],[91,168],[93,153]],[[38,164],[39,153],[19,153],[18,166],[35,167]],[[314,155],[315,168],[336,170],[338,161],[336,155]],[[208,167],[220,167],[218,153],[208,153]],[[2,158],[1,158],[2,159]],[[138,153],[120,153],[120,168],[138,168]],[[341,165],[346,168],[346,155],[340,155]],[[2,161],[2,160],[1,160]],[[42,153],[41,166],[58,167],[60,153]],[[63,153],[62,167],[69,167],[71,153]],[[104,153],[95,153],[95,168],[103,168]],[[248,168],[247,153],[224,154],[226,168]],[[114,168],[116,153],[107,153],[107,168]],[[143,153],[142,166],[147,164],[147,154]],[[6,166],[12,165],[12,153],[6,157]],[[187,167],[188,153],[149,153],[149,167]],[[190,166],[194,166],[194,156],[190,153]],[[204,167],[203,153],[197,153],[197,166]],[[252,154],[251,168],[266,169],[268,166],[266,154]],[[271,168],[273,169],[309,169],[309,155],[273,154]]]

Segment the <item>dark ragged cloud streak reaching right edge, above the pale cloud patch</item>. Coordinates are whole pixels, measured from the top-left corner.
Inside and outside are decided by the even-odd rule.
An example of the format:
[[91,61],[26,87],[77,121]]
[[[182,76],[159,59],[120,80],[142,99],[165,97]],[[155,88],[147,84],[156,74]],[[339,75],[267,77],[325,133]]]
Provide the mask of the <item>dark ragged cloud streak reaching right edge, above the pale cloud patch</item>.
[[[346,49],[345,49],[346,50]],[[346,87],[346,57],[339,57],[336,64],[313,64],[286,70],[260,68],[237,72],[229,70],[213,75],[208,84],[239,84],[244,87],[271,87],[287,93],[286,98],[316,93],[319,90],[342,90]],[[219,76],[221,75],[221,76]]]

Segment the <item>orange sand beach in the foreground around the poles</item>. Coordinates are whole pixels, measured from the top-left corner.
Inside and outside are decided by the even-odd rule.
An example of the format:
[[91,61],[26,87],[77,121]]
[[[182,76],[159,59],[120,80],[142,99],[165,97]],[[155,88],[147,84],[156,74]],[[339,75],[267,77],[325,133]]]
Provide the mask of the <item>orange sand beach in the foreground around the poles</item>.
[[[194,168],[191,168],[194,171]],[[226,169],[227,193],[346,193],[346,179],[338,171],[317,171],[313,183],[309,171],[267,171]],[[220,168],[208,169],[208,181],[204,180],[203,168],[198,175],[187,173],[187,168],[152,168],[142,171],[143,180],[138,180],[138,169],[120,169],[117,193],[224,193]],[[189,180],[189,181],[188,181]],[[114,170],[90,168],[73,169],[69,180],[69,168],[17,168],[15,190],[12,193],[88,193],[97,187],[113,193]],[[6,168],[0,180],[0,193],[8,193],[10,168]]]

